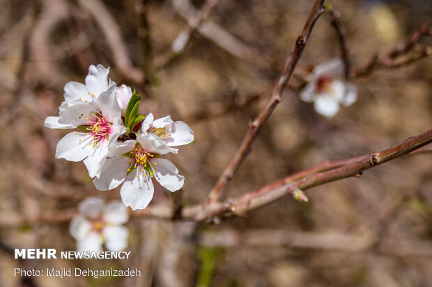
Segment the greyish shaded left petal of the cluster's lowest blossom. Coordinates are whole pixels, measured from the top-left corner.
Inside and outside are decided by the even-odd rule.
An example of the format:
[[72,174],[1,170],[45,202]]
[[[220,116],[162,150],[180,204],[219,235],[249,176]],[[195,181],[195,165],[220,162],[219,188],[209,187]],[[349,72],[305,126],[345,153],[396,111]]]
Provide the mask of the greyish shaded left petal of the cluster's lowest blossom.
[[129,158],[126,156],[116,156],[114,158],[107,158],[100,177],[95,178],[93,183],[98,190],[111,190],[116,188],[125,180],[126,173],[129,167]]

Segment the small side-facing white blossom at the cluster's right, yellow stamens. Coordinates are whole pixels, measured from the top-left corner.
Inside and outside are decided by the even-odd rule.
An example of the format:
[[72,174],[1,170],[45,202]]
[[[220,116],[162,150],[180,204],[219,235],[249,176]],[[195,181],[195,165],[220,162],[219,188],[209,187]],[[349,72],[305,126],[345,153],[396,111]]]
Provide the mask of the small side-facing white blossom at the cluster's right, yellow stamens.
[[[194,132],[184,122],[173,122],[171,117],[161,117],[154,120],[152,113],[149,113],[144,120],[141,131],[143,134],[153,134],[169,147],[178,147],[187,145],[194,140]],[[173,153],[177,154],[178,149],[173,149]]]

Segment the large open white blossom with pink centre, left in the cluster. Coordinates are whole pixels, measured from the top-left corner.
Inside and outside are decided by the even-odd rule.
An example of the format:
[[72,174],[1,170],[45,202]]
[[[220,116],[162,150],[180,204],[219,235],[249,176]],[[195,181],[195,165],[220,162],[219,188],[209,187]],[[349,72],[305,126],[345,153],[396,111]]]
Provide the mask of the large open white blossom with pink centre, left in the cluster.
[[99,177],[109,149],[125,132],[121,110],[115,97],[116,83],[111,83],[93,101],[64,101],[59,108],[58,122],[45,120],[51,129],[78,128],[68,133],[56,147],[56,158],[82,161],[90,177]]

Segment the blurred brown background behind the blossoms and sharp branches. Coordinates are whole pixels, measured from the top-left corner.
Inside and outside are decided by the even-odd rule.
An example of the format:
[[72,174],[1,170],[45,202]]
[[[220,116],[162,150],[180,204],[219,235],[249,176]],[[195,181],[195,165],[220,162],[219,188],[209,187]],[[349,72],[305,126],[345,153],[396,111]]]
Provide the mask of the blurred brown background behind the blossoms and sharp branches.
[[[183,204],[198,204],[270,95],[313,2],[1,0],[0,285],[432,286],[431,154],[307,190],[307,204],[284,198],[220,224],[132,217],[128,261],[21,262],[10,253],[74,250],[67,218],[77,204],[120,198],[118,188],[98,192],[83,163],[54,158],[65,132],[43,122],[58,114],[65,83],[83,83],[88,66],[102,64],[118,85],[144,95],[142,113],[187,122],[195,140],[170,159],[185,175]],[[340,13],[353,68],[387,55],[432,15],[428,0],[328,3]],[[412,51],[428,46],[430,35]],[[330,119],[300,101],[302,75],[338,56],[326,13],[224,199],[431,129],[431,57],[355,77],[357,102]],[[169,202],[155,186],[152,204]],[[13,276],[15,267],[75,266],[140,268],[143,276]]]

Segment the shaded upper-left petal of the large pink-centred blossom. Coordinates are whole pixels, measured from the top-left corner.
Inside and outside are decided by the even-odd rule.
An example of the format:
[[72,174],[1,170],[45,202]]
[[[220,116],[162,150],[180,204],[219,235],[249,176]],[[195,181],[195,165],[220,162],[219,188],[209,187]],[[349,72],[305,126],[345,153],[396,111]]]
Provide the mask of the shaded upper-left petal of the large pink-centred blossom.
[[93,119],[92,115],[95,113],[95,108],[90,102],[82,101],[63,101],[59,109],[59,123],[74,126],[86,125],[86,118]]

